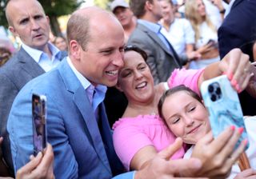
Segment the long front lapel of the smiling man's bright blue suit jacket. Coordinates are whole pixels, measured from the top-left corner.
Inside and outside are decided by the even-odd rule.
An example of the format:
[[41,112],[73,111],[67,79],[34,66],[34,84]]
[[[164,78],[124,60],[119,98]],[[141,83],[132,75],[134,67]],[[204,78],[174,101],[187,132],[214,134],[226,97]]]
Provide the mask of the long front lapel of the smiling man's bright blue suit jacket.
[[[99,160],[106,166],[106,169],[110,170],[110,164],[106,156],[106,150],[102,142],[102,136],[98,129],[98,123],[95,119],[92,106],[86,95],[86,90],[83,89],[78,78],[74,75],[74,72],[70,69],[70,66],[66,62],[66,59],[61,62],[58,67],[62,80],[66,85],[67,90],[70,93],[74,93],[74,104],[78,107],[82,114],[83,120],[86,122],[85,130],[88,140],[93,145],[95,152],[98,154]],[[100,114],[101,115],[101,114]]]

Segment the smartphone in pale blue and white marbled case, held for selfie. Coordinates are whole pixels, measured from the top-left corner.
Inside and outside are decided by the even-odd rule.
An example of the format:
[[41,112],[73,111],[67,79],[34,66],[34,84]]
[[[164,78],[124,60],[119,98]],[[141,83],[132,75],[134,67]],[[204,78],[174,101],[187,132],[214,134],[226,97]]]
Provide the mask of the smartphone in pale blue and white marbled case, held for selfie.
[[[248,138],[238,93],[232,88],[226,75],[202,82],[200,90],[209,112],[210,126],[214,137],[217,137],[230,125],[234,125],[236,128],[243,127],[243,133],[235,146],[237,148],[242,140]],[[246,149],[248,147],[249,143]]]

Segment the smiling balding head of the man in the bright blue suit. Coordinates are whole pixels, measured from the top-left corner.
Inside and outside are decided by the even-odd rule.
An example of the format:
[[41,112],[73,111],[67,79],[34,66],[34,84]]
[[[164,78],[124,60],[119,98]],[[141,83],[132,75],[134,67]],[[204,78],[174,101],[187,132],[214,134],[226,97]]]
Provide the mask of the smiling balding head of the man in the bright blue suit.
[[[78,18],[81,19],[78,21]],[[118,82],[118,70],[123,66],[124,55],[124,31],[118,19],[96,7],[78,10],[70,19],[69,33],[72,29],[70,26],[77,25],[75,30],[80,28],[80,31],[74,30],[75,36],[88,36],[86,40],[78,42],[81,39],[73,40],[73,34],[68,34],[70,59],[74,67],[94,86],[115,86]],[[98,22],[102,22],[101,26],[98,26]],[[81,32],[87,23],[88,30]],[[82,45],[83,41],[86,41],[86,45]]]

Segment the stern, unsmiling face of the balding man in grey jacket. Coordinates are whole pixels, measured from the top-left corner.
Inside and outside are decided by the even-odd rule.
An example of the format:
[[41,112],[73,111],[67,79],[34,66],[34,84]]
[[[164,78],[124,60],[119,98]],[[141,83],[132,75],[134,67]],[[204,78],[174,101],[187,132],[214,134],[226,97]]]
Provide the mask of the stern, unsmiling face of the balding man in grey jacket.
[[10,1],[6,7],[6,14],[10,20],[10,31],[21,38],[26,46],[38,50],[46,48],[50,26],[39,2]]

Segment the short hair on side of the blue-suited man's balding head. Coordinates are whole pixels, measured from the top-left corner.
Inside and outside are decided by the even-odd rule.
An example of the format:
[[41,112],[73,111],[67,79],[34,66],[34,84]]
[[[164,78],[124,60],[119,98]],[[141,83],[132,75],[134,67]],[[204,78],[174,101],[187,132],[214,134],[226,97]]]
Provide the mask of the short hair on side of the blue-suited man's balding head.
[[79,13],[72,14],[66,27],[66,38],[68,44],[70,44],[71,40],[75,40],[80,46],[82,46],[82,50],[86,50],[86,45],[90,40],[89,30],[89,17]]

